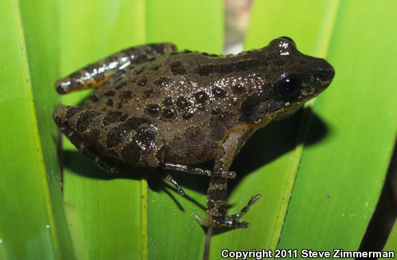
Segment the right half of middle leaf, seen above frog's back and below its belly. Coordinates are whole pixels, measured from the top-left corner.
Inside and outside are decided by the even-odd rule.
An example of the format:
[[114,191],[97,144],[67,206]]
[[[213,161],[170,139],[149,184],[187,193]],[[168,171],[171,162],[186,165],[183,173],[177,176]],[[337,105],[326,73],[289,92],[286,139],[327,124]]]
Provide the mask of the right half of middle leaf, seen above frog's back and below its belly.
[[[222,53],[222,1],[153,0],[148,1],[146,12],[148,42],[168,40],[180,50]],[[164,190],[164,184],[158,183],[159,176],[149,178],[149,185],[153,186],[148,200],[149,259],[201,258],[205,232],[193,213],[205,216],[199,205],[206,205],[209,179],[177,172],[172,176],[196,203],[183,198],[169,185]]]

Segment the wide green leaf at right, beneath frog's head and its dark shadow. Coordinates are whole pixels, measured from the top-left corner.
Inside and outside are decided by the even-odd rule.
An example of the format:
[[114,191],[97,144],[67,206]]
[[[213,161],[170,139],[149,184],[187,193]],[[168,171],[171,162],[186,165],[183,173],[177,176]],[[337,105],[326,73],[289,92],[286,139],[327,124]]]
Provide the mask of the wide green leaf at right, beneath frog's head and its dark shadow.
[[[327,56],[336,77],[329,90],[307,106],[311,109],[272,123],[257,133],[263,138],[254,136],[254,144],[248,141],[243,148],[240,157],[248,155],[241,161],[257,170],[245,170],[252,174],[240,180],[230,201],[241,207],[251,194],[263,197],[244,217],[250,229],[213,238],[213,258],[222,248],[358,249],[379,199],[397,129],[395,79],[390,79],[396,64],[388,58],[395,51],[387,48],[395,38],[376,37],[379,28],[387,34],[387,24],[396,22],[392,10],[375,1],[254,3],[247,49],[290,36],[303,53]],[[385,19],[368,19],[379,16]],[[256,165],[250,150],[261,151]],[[260,161],[270,163],[262,167]]]

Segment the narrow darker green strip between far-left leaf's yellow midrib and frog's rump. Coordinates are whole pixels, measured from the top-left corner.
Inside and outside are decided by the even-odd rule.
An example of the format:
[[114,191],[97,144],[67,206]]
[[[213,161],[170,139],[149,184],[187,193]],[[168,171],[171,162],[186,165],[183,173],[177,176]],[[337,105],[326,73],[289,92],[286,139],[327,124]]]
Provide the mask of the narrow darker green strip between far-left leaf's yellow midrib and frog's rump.
[[[53,239],[59,242],[56,257],[74,259],[71,237],[68,234],[61,194],[61,174],[57,157],[58,130],[52,120],[57,105],[57,93],[53,83],[59,77],[57,61],[57,10],[56,1],[21,1],[21,19],[27,46],[27,60],[31,75],[34,105],[38,118],[40,144],[46,166],[47,180],[53,207]],[[39,16],[38,13],[47,15]],[[45,68],[45,69],[44,69]]]

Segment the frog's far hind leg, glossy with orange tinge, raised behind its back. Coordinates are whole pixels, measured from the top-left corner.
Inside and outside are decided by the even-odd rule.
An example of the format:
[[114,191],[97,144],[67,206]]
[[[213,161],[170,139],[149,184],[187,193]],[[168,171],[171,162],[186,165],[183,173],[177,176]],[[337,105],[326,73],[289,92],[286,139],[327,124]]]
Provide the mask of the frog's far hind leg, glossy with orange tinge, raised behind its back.
[[109,79],[123,77],[125,72],[133,69],[136,65],[172,51],[176,51],[176,47],[170,43],[145,44],[131,47],[105,57],[103,60],[99,60],[94,64],[75,71],[68,77],[58,80],[55,83],[55,88],[60,94],[86,88],[99,88]]

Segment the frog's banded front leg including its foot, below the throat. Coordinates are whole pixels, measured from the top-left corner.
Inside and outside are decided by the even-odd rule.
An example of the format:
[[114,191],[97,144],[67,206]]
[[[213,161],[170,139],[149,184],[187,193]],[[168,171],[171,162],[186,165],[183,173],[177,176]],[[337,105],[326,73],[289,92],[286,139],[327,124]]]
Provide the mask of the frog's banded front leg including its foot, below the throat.
[[[229,134],[222,142],[218,154],[215,159],[214,172],[227,172],[235,155],[238,154],[240,148],[255,131],[255,127],[251,125],[243,125],[229,131]],[[203,226],[221,226],[221,227],[248,227],[247,222],[238,222],[238,220],[251,208],[253,203],[259,199],[259,195],[253,196],[248,204],[234,215],[226,214],[227,200],[227,179],[224,177],[212,177],[209,181],[207,192],[207,216],[201,220],[198,216],[196,219]]]

